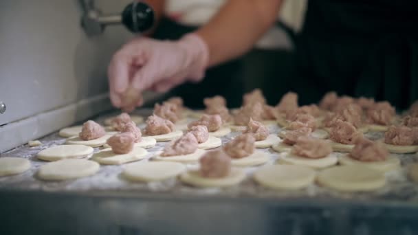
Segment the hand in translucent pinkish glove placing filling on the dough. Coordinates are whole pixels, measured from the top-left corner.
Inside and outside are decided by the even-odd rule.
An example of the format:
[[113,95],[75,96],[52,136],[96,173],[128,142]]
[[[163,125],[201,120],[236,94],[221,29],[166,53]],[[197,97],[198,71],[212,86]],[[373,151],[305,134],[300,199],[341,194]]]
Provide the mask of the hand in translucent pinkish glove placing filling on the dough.
[[208,46],[196,34],[179,41],[135,38],[115,53],[109,65],[113,105],[134,109],[142,104],[142,91],[166,92],[188,80],[199,82],[208,54]]

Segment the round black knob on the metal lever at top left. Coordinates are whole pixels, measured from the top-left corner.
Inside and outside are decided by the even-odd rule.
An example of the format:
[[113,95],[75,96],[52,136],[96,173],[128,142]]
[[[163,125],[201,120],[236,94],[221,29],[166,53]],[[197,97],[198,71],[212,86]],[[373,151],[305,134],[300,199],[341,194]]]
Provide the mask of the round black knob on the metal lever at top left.
[[122,12],[122,23],[131,32],[139,33],[149,30],[153,27],[154,21],[153,8],[140,1],[126,5]]

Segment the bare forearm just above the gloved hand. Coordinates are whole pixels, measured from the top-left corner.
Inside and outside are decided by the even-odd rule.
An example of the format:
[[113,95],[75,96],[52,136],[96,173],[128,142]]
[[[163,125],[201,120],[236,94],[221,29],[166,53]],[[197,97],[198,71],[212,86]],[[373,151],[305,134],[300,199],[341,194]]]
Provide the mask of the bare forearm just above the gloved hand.
[[209,48],[208,65],[236,58],[276,21],[282,0],[230,0],[197,31]]

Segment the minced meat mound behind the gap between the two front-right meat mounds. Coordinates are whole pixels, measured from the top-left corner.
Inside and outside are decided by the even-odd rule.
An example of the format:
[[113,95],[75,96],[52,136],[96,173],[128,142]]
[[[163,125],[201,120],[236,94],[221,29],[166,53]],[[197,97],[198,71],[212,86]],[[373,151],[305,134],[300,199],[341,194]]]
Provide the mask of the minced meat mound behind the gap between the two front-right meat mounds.
[[331,128],[329,139],[340,144],[354,144],[362,133],[359,133],[350,122],[337,120]]

